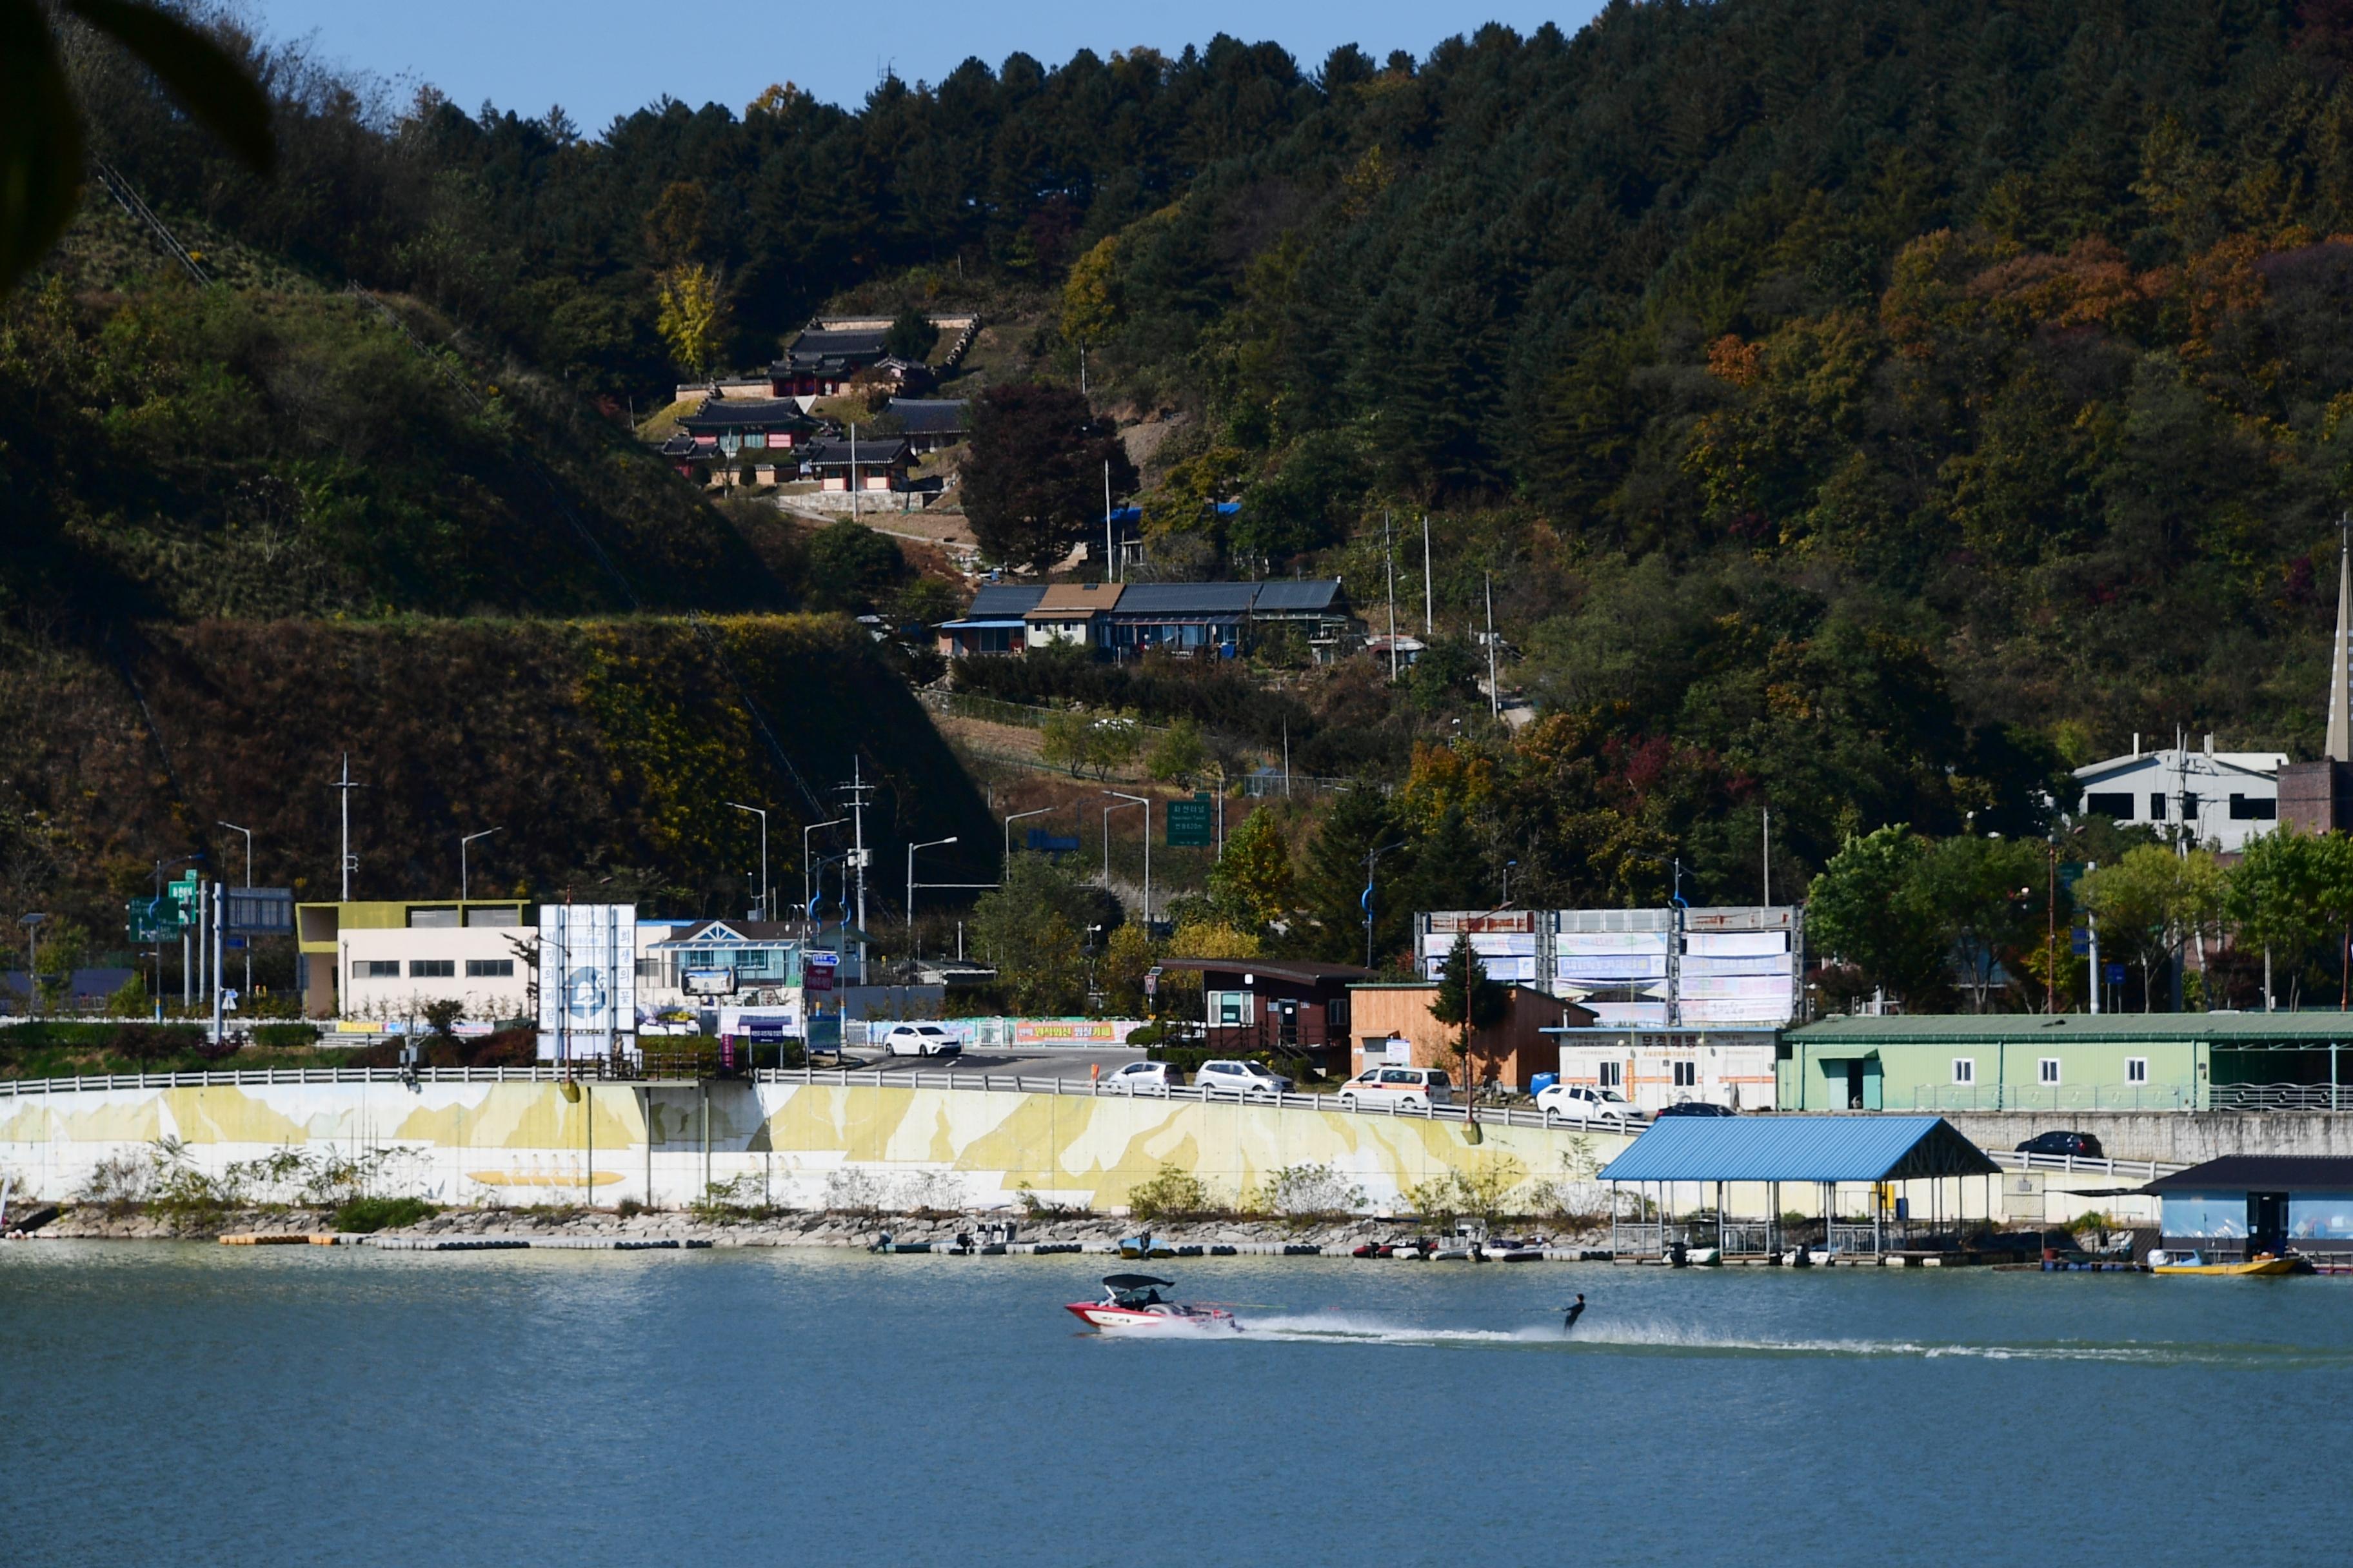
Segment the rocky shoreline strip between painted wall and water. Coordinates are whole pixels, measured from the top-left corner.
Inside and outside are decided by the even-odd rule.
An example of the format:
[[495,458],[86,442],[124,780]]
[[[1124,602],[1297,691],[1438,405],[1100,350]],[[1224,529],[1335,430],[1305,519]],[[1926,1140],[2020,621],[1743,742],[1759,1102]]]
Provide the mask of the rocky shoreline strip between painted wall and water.
[[[28,1213],[33,1220],[40,1211]],[[616,1213],[534,1213],[525,1208],[461,1208],[433,1215],[400,1229],[374,1232],[372,1241],[431,1244],[431,1241],[675,1241],[680,1246],[875,1246],[882,1237],[899,1244],[929,1241],[951,1246],[955,1237],[969,1234],[974,1241],[988,1239],[988,1227],[1000,1225],[995,1215],[845,1215],[821,1211],[767,1213],[727,1220],[701,1220],[680,1211],[647,1211],[635,1215]],[[16,1218],[9,1218],[16,1225]],[[1144,1225],[1108,1215],[1042,1215],[1016,1220],[1014,1246],[1026,1251],[1033,1244],[1078,1246],[1082,1251],[1115,1251],[1118,1244],[1139,1232],[1151,1232],[1155,1244],[1167,1246],[1313,1246],[1322,1253],[1348,1253],[1367,1241],[1402,1241],[1414,1234],[1431,1234],[1409,1220],[1191,1220]],[[33,1239],[56,1241],[209,1241],[216,1237],[322,1237],[334,1229],[332,1211],[313,1208],[247,1208],[221,1211],[191,1220],[188,1215],[162,1213],[108,1213],[96,1204],[73,1204],[28,1232]],[[1577,1248],[1607,1246],[1609,1232],[1534,1227],[1513,1229],[1537,1246]],[[360,1241],[360,1237],[346,1237]]]

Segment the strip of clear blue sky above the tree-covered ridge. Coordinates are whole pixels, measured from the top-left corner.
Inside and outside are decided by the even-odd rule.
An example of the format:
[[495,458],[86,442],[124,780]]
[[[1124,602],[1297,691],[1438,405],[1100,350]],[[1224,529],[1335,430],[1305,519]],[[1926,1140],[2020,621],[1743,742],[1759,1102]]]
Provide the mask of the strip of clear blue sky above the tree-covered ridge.
[[1019,49],[1052,66],[1080,47],[1111,54],[1151,45],[1174,54],[1217,33],[1280,42],[1313,68],[1344,42],[1374,59],[1391,49],[1421,56],[1487,21],[1520,33],[1546,21],[1574,31],[1600,2],[896,0],[840,12],[760,2],[664,9],[619,0],[247,0],[245,9],[264,35],[308,40],[327,63],[431,82],[468,110],[482,99],[534,115],[562,103],[593,134],[661,94],[741,110],[769,82],[791,80],[856,103],[885,68],[936,82],[974,54],[998,63]]

